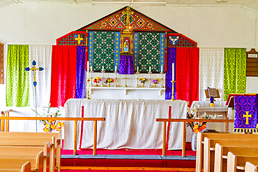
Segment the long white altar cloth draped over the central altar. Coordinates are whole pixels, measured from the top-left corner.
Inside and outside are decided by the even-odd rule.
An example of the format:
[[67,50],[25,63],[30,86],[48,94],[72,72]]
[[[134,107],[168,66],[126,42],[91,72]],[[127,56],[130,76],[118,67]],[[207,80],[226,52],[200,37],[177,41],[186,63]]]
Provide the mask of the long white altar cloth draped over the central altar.
[[[182,100],[85,100],[70,99],[65,104],[66,117],[101,117],[98,121],[97,148],[162,148],[162,125],[155,118],[186,118],[187,102]],[[64,149],[73,149],[74,122],[65,124]],[[182,148],[182,123],[171,123],[168,149]],[[77,148],[80,148],[81,122],[78,121]],[[93,122],[84,121],[81,148],[93,148]]]

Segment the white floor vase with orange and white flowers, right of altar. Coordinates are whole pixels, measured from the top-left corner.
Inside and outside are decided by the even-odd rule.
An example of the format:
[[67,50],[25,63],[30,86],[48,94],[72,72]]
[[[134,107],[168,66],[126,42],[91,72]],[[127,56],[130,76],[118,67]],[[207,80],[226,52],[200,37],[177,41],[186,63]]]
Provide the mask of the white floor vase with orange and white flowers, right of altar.
[[[188,110],[186,112],[186,117],[188,119],[214,119],[216,118],[216,114],[214,115],[207,115],[204,112],[204,115],[202,117],[197,117],[197,107],[193,107],[192,109],[190,109],[188,107]],[[197,133],[198,132],[202,132],[203,130],[206,129],[206,122],[204,123],[199,123],[199,122],[190,122],[190,123],[186,123],[186,127],[190,127],[192,129],[192,142],[191,142],[191,146],[192,146],[192,150],[196,151],[197,149]]]

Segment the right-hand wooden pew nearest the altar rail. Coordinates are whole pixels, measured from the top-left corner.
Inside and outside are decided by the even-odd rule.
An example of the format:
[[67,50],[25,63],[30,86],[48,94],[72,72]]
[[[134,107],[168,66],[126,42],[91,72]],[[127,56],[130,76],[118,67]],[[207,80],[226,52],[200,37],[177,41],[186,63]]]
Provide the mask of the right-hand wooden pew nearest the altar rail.
[[204,138],[210,139],[252,139],[258,140],[258,134],[229,134],[229,133],[197,133],[196,172],[204,168]]

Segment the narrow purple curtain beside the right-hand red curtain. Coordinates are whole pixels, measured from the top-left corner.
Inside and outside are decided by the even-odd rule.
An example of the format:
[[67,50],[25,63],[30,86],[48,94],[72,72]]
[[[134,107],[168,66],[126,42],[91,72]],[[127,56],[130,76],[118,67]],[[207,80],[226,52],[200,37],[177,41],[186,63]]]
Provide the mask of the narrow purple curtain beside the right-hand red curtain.
[[[172,96],[172,63],[175,68],[176,80],[176,48],[167,48],[167,72],[166,72],[166,95],[165,100],[170,100]],[[174,84],[174,99],[176,99],[176,83]]]

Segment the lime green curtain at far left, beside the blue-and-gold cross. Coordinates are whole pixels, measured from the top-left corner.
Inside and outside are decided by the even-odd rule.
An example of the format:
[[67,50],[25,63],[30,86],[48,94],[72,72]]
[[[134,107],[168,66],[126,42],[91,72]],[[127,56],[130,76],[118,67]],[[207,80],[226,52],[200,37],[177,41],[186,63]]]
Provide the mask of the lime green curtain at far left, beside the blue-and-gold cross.
[[29,107],[29,45],[8,45],[6,106]]

